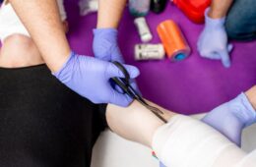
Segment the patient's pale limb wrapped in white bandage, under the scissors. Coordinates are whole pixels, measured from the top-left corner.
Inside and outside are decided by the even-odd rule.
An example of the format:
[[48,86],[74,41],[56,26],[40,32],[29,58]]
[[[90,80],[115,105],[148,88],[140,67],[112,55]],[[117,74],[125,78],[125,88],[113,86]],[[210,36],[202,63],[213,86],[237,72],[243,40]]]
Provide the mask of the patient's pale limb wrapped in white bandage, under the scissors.
[[109,104],[107,124],[117,135],[153,148],[166,166],[255,166],[256,152],[246,154],[221,133],[198,120],[163,108],[160,110],[164,112],[167,124],[138,101],[133,101],[127,108]]

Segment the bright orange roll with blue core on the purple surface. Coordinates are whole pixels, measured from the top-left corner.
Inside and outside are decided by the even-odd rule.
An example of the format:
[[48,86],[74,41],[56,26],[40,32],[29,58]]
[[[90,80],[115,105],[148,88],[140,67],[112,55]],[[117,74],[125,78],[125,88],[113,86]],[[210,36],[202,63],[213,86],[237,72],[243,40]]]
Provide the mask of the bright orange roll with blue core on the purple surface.
[[157,28],[164,50],[171,61],[184,60],[190,54],[190,47],[180,28],[171,20],[160,23]]

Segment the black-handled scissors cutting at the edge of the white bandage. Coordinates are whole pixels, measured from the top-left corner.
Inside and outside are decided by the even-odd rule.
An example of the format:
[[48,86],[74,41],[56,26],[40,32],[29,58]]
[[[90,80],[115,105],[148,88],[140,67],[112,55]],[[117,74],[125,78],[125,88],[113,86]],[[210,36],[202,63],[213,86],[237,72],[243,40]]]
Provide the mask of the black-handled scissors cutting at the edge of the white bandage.
[[139,101],[143,106],[148,108],[150,111],[152,111],[157,117],[160,118],[161,121],[164,123],[167,123],[167,121],[160,115],[163,114],[160,109],[149,105],[143,98],[142,96],[131,86],[130,84],[130,75],[127,72],[127,70],[123,67],[123,65],[119,62],[112,62],[124,75],[124,78],[111,78],[111,80],[119,85],[122,90],[128,94],[131,98]]

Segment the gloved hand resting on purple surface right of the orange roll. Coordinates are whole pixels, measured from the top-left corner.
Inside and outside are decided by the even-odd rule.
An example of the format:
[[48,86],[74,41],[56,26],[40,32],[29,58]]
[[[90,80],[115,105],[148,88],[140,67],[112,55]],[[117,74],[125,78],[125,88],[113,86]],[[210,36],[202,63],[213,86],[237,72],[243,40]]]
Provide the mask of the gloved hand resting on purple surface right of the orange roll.
[[224,29],[225,18],[211,19],[208,16],[209,8],[205,12],[205,28],[199,36],[197,49],[202,57],[222,60],[225,68],[230,67],[228,53],[232,45],[227,44],[227,35]]

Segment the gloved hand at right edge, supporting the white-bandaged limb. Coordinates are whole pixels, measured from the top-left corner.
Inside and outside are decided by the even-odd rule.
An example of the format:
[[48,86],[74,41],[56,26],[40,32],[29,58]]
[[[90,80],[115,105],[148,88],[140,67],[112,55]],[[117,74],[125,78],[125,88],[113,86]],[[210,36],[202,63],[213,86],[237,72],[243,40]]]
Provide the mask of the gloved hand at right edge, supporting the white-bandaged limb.
[[202,121],[240,146],[242,129],[256,123],[256,111],[246,95],[241,93],[212,110]]

